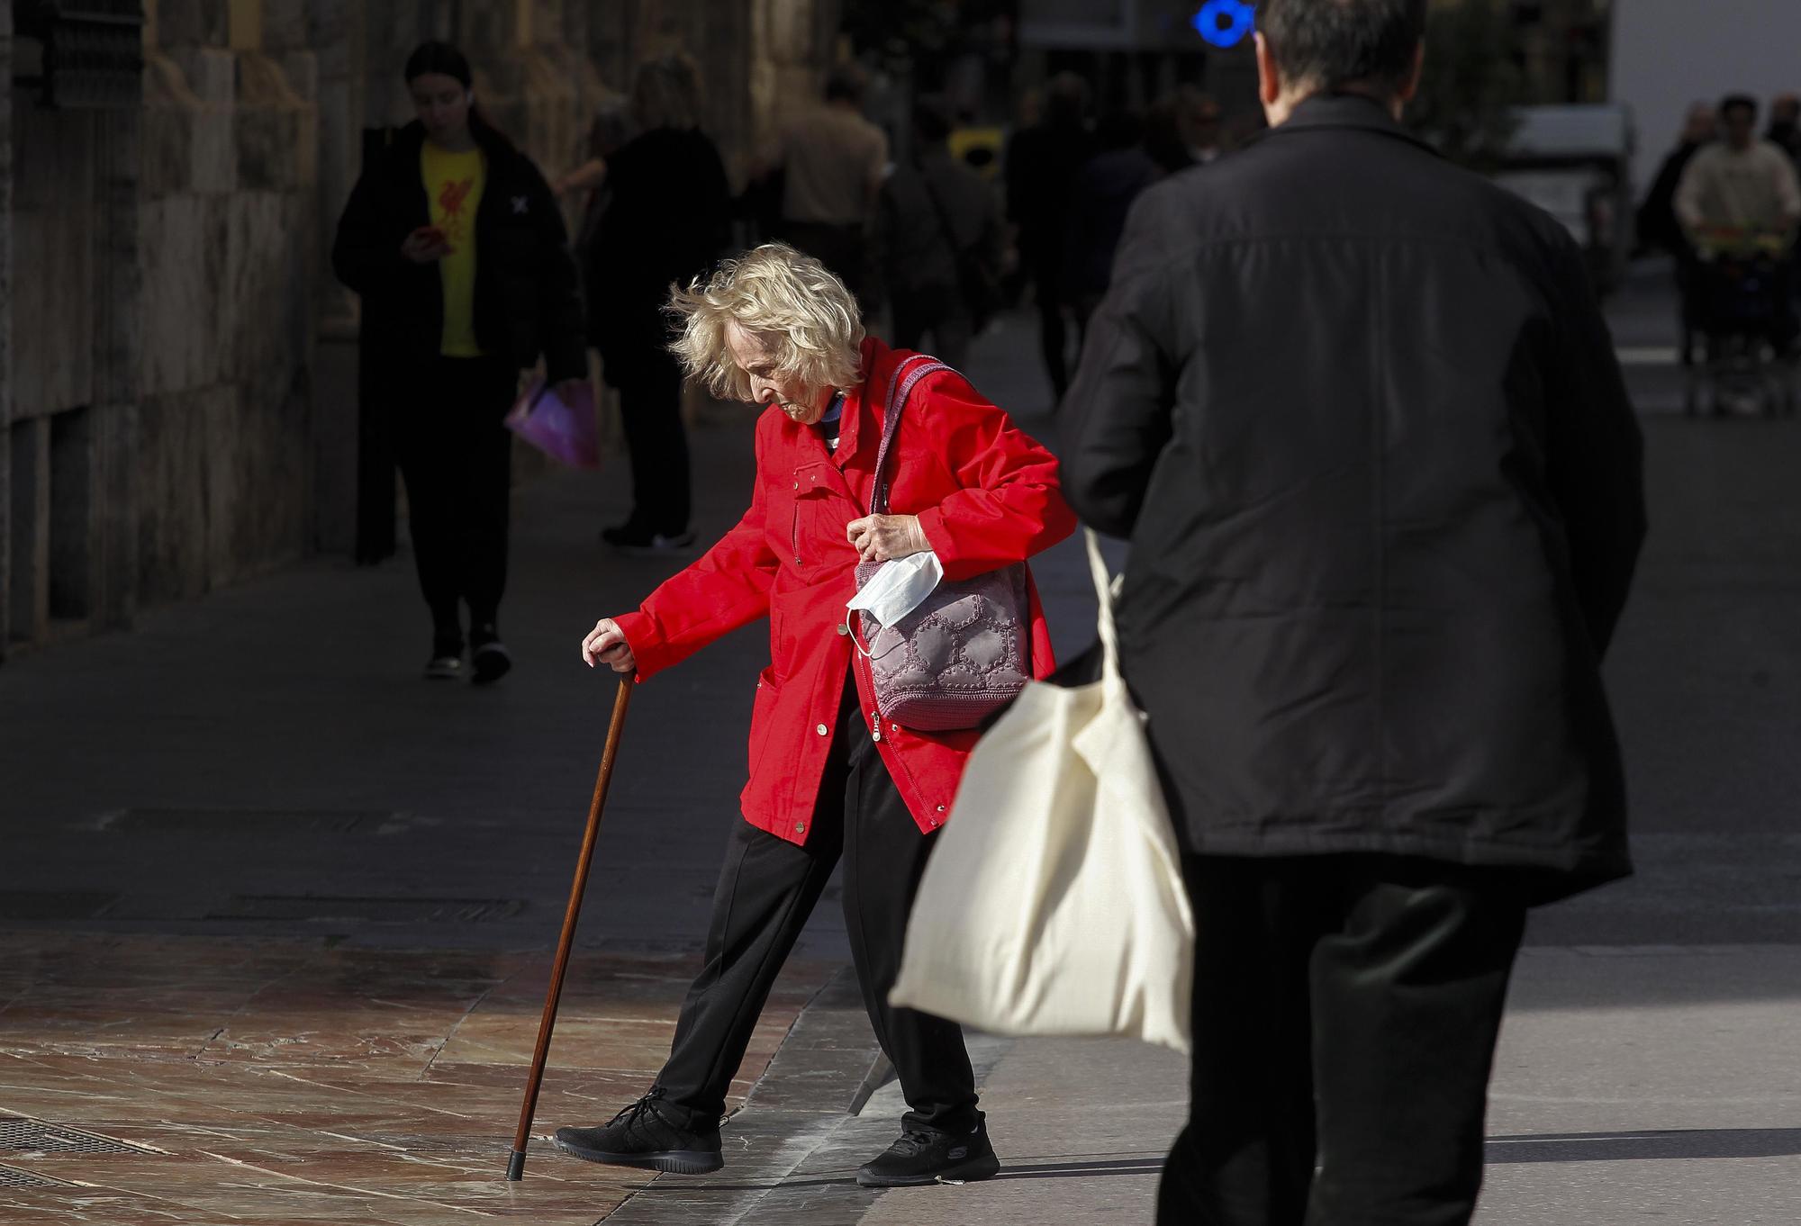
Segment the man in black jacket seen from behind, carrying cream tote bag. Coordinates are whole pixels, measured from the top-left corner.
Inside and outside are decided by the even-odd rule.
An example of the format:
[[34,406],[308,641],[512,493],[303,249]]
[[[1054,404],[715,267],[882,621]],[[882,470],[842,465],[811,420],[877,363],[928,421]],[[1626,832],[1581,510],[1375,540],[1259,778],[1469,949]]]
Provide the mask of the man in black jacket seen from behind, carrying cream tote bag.
[[1581,252],[1398,122],[1426,0],[1264,0],[1273,130],[1140,196],[1064,407],[1196,913],[1162,1222],[1468,1222],[1525,907],[1630,871],[1644,531]]

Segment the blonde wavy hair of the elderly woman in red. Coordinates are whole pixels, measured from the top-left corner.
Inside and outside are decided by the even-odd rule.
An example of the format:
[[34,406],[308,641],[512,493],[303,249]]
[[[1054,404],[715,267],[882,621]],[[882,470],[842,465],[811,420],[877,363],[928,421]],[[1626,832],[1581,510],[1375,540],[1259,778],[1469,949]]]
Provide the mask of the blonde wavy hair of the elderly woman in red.
[[728,259],[710,277],[670,286],[681,335],[670,351],[720,400],[751,400],[751,380],[731,356],[726,326],[774,342],[776,373],[814,389],[861,380],[863,315],[857,299],[812,256],[764,243]]

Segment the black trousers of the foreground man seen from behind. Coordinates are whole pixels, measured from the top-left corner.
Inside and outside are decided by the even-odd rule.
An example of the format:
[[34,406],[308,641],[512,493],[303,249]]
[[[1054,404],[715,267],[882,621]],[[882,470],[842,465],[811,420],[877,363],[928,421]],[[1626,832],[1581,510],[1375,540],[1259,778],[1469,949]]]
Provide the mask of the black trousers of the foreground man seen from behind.
[[1162,1226],[1462,1226],[1525,924],[1500,871],[1187,857],[1189,1125]]

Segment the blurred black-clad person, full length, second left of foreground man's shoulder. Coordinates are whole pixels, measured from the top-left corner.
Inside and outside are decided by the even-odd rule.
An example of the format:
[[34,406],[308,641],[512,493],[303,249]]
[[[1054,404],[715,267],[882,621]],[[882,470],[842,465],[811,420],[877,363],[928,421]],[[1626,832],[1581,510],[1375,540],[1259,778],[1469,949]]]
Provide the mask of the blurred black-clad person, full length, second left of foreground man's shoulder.
[[1039,344],[1055,398],[1070,385],[1064,293],[1064,229],[1070,193],[1095,144],[1088,131],[1088,83],[1059,72],[1045,86],[1043,119],[1007,144],[1007,220],[1018,227],[1019,266],[1032,283]]

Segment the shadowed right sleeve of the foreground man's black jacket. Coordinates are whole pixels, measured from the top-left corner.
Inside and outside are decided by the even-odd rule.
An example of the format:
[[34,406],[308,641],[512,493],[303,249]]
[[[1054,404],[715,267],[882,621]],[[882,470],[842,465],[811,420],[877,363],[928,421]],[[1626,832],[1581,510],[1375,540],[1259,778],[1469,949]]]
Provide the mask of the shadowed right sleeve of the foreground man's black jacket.
[[1574,241],[1556,252],[1556,292],[1561,355],[1547,389],[1545,466],[1583,619],[1605,652],[1644,542],[1644,443]]

